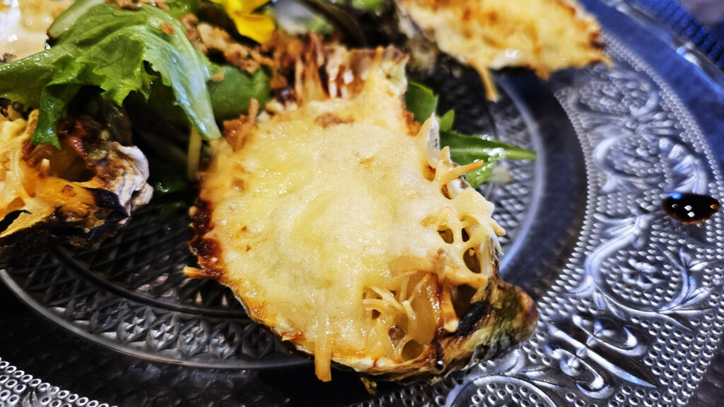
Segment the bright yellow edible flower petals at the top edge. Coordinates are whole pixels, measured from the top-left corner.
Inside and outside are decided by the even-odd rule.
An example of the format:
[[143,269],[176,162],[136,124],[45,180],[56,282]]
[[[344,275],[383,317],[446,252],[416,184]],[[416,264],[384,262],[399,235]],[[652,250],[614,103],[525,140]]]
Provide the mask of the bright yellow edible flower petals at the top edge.
[[266,14],[253,14],[269,0],[211,0],[221,4],[236,25],[236,30],[258,43],[265,43],[274,33],[274,18]]

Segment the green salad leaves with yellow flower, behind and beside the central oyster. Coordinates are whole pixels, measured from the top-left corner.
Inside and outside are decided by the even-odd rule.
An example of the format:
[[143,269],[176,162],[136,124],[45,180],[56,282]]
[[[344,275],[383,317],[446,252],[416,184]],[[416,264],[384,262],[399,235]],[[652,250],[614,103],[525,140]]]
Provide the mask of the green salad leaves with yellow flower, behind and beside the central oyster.
[[[265,3],[169,0],[160,3],[163,7],[142,1],[137,7],[122,8],[104,0],[76,1],[49,29],[51,40],[45,51],[0,64],[0,98],[24,109],[39,109],[33,144],[61,148],[59,121],[83,89],[94,89],[117,106],[147,109],[160,121],[187,127],[192,138],[188,145],[194,150],[190,154],[195,156],[190,162],[196,163],[201,143],[193,136],[222,137],[220,123],[248,112],[253,99],[263,109],[274,97],[271,82],[278,68],[262,66],[250,72],[219,58],[212,60],[190,41],[179,19],[206,9],[211,18],[226,19],[237,28],[232,35],[236,41],[257,46],[252,38],[269,38],[265,19],[273,10]],[[405,104],[418,122],[436,113],[437,100],[430,88],[409,83]],[[454,161],[461,165],[484,161],[466,175],[475,188],[492,177],[500,159],[535,159],[528,149],[458,133],[452,111],[438,119],[441,146],[450,147]]]

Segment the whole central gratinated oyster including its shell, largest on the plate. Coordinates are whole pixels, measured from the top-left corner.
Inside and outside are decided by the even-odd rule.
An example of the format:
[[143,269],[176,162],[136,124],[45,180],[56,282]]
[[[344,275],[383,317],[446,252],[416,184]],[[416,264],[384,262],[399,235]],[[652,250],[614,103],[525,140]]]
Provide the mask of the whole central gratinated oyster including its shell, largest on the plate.
[[536,327],[531,298],[498,274],[492,204],[460,178],[480,163],[458,167],[435,117],[413,121],[405,62],[311,41],[296,97],[211,143],[191,209],[201,269],[186,273],[232,288],[325,381],[333,363],[442,377]]

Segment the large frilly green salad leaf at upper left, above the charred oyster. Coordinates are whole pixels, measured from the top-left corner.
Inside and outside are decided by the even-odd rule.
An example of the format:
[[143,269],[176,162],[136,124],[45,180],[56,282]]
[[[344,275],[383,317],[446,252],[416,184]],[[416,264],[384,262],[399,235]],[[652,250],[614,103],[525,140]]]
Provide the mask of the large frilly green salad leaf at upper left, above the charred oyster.
[[67,9],[49,30],[57,35],[50,49],[0,64],[0,97],[41,110],[33,143],[60,147],[58,121],[82,86],[98,86],[121,105],[132,92],[148,99],[159,76],[203,138],[221,137],[206,87],[211,65],[180,23],[157,7],[98,3],[80,0]]

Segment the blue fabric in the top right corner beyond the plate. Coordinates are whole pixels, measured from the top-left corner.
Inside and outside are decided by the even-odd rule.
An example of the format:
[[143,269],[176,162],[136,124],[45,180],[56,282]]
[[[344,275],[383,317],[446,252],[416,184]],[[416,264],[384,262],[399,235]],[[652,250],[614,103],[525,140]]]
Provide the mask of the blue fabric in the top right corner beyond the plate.
[[724,21],[714,27],[705,28],[675,0],[628,1],[647,10],[674,33],[689,38],[718,67],[724,69]]

